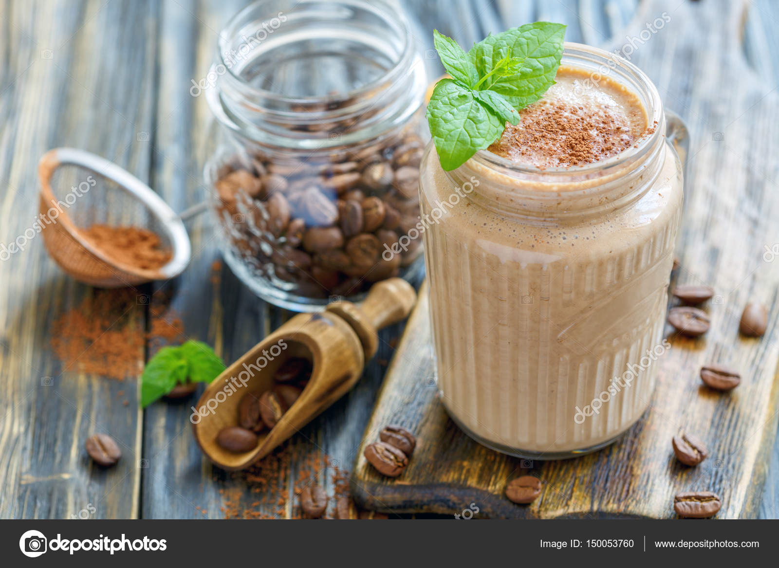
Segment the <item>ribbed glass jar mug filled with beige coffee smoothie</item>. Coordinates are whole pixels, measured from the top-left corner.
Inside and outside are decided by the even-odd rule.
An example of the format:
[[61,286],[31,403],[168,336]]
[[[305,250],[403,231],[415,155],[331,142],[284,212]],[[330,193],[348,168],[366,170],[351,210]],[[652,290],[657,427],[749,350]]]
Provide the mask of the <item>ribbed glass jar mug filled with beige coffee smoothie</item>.
[[580,44],[566,44],[562,65],[613,67],[608,77],[646,109],[647,135],[570,168],[482,150],[446,172],[428,145],[420,174],[442,402],[478,442],[542,460],[611,443],[649,405],[670,347],[682,210],[682,167],[650,79]]

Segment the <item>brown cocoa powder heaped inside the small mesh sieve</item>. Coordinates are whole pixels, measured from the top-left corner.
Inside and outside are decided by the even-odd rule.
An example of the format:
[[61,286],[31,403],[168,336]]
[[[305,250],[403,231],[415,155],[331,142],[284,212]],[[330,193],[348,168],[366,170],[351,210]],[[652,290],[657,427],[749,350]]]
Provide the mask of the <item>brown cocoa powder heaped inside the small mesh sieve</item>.
[[143,228],[93,224],[79,232],[118,264],[157,270],[171,259],[171,252],[163,248],[160,236]]

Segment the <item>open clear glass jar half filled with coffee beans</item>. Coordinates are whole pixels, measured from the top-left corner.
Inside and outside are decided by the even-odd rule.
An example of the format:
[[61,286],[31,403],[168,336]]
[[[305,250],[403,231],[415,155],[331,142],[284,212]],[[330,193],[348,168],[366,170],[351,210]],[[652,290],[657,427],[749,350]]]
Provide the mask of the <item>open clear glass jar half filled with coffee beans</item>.
[[193,82],[216,118],[204,176],[224,258],[257,295],[311,310],[424,270],[396,245],[419,219],[425,68],[383,2],[256,2]]

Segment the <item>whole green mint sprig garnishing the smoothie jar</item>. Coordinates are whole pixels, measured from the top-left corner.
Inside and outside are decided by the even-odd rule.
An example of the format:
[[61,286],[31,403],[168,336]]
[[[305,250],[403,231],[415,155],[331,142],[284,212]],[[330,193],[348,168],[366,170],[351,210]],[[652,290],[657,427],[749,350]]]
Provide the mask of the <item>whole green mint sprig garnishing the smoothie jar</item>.
[[467,53],[433,30],[433,44],[452,79],[435,85],[428,103],[430,133],[441,167],[459,168],[495,142],[506,122],[555,84],[566,26],[536,22],[488,35]]

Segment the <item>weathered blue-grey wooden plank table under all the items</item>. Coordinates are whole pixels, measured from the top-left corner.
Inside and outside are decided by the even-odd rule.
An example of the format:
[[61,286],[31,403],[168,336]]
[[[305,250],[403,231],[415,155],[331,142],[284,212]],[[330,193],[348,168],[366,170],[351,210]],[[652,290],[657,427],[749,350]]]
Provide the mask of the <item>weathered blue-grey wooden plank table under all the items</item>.
[[[681,6],[693,14],[689,10],[727,12],[725,2],[703,0],[692,8],[688,2],[668,0],[664,10],[671,17],[682,13],[677,12]],[[37,0],[0,5],[0,242],[11,242],[33,222],[37,160],[54,146],[76,146],[117,162],[148,182],[174,210],[202,200],[200,159],[209,111],[203,97],[191,96],[191,80],[205,75],[220,27],[246,3]],[[442,72],[431,51],[433,27],[467,46],[488,32],[548,19],[568,24],[569,41],[601,45],[610,38],[621,41],[622,26],[637,4],[403,3],[428,50],[431,77]],[[765,96],[779,86],[777,30],[779,4],[757,0],[746,11],[742,37],[731,46],[762,77]],[[657,41],[668,42],[671,53],[677,40]],[[695,161],[701,146],[724,128],[696,119],[693,89],[670,88],[685,76],[652,79],[663,96],[673,94],[668,105],[696,132],[689,156]],[[721,86],[728,88],[735,87]],[[716,104],[716,93],[708,94]],[[227,268],[215,270],[220,253],[210,218],[193,220],[188,230],[194,252],[189,269],[172,282],[139,288],[137,294],[151,301],[133,305],[125,324],[143,333],[154,329],[160,310],[174,310],[187,336],[212,344],[231,361],[288,314],[259,301]],[[400,326],[382,333],[379,355],[358,386],[247,481],[203,459],[192,439],[186,402],[153,404],[142,411],[135,381],[63,368],[51,349],[52,325],[93,291],[66,277],[48,259],[41,239],[28,244],[0,263],[0,517],[294,517],[296,485],[315,476],[333,492],[340,481],[334,472],[354,461]],[[150,338],[138,350],[139,369],[159,344]],[[772,351],[775,347],[769,345]],[[110,432],[121,443],[125,457],[117,467],[102,470],[87,459],[83,441],[93,432]],[[774,518],[779,517],[779,446],[766,465],[760,515]]]

